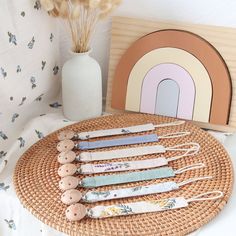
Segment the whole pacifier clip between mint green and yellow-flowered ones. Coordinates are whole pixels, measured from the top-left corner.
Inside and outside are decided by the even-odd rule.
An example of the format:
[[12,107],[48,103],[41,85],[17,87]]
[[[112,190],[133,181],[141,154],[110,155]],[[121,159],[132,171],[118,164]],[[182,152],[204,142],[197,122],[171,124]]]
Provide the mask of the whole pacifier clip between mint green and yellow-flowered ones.
[[163,182],[163,183],[146,185],[146,186],[114,189],[114,190],[107,190],[107,191],[100,191],[100,192],[88,191],[84,195],[82,195],[81,191],[77,189],[69,189],[62,194],[61,201],[66,205],[71,205],[74,203],[78,203],[80,200],[87,203],[93,203],[93,202],[107,201],[107,200],[119,199],[119,198],[146,196],[150,194],[171,192],[174,190],[178,190],[184,185],[195,183],[201,180],[208,180],[208,179],[212,179],[212,176],[190,178],[180,183],[169,181],[169,182]]

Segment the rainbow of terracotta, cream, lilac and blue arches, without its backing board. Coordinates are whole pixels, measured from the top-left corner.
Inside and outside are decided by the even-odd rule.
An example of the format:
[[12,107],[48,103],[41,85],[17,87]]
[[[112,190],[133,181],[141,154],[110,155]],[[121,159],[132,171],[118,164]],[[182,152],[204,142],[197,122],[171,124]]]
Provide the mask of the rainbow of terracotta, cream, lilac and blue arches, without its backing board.
[[163,97],[171,86],[165,80],[177,85],[176,117],[228,123],[232,85],[223,58],[203,38],[181,30],[157,31],[131,45],[116,68],[112,107],[158,114],[171,95]]

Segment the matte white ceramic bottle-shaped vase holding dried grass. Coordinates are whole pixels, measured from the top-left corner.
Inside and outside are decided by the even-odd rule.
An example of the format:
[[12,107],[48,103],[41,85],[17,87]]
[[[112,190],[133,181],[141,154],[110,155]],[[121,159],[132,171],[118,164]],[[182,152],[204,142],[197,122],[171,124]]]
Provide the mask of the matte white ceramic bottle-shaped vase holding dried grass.
[[72,121],[102,114],[101,68],[89,53],[72,53],[62,68],[63,112]]

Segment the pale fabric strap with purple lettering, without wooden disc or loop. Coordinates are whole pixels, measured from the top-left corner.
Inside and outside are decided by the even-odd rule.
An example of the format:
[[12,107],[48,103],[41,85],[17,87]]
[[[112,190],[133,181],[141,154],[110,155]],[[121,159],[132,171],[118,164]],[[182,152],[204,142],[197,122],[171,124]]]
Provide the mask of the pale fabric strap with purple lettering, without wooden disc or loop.
[[79,168],[80,174],[96,174],[106,172],[128,171],[150,169],[160,166],[165,166],[168,161],[165,157],[141,160],[141,161],[126,161],[126,162],[111,162],[104,164],[85,164]]

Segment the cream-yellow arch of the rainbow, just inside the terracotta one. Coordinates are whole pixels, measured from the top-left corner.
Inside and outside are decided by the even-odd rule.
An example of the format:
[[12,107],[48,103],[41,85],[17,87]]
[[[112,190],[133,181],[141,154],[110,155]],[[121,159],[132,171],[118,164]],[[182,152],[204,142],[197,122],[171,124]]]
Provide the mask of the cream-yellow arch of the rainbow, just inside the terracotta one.
[[[193,119],[198,121],[204,121],[208,122],[209,120],[209,114],[210,114],[210,108],[211,108],[211,97],[212,97],[212,85],[210,77],[205,69],[205,67],[199,62],[197,58],[195,58],[190,53],[177,49],[177,48],[160,48],[155,49],[147,54],[145,54],[132,68],[128,86],[127,86],[127,94],[126,94],[126,110],[132,110],[132,111],[143,111],[147,113],[154,114],[150,112],[150,110],[140,110],[140,97],[142,94],[142,83],[143,80],[145,80],[145,75],[148,73],[150,68],[153,68],[155,65],[158,64],[164,64],[165,63],[174,63],[176,65],[181,65],[184,69],[188,71],[188,73],[191,75],[189,77],[189,80],[186,81],[185,84],[181,83],[183,82],[183,78],[177,78],[178,84],[181,83],[182,86],[180,86],[183,90],[190,89],[195,97],[195,106],[194,106],[194,114]],[[172,65],[173,69],[176,70],[176,66]],[[165,66],[162,66],[162,78],[173,78],[175,77],[174,73],[171,73],[171,75],[168,75],[168,73],[172,72],[170,71],[170,66],[167,68],[168,70],[165,70]],[[176,74],[177,75],[177,74]],[[155,75],[154,75],[155,76]],[[163,77],[164,76],[164,77]],[[150,77],[150,74],[149,74]],[[160,76],[158,76],[160,77]],[[192,78],[191,78],[192,77]],[[194,81],[194,84],[196,86],[196,91],[192,90],[191,87],[188,88],[189,84],[192,84]],[[186,87],[187,86],[187,87]],[[186,87],[186,88],[184,88]],[[149,92],[145,90],[145,92],[148,94]],[[205,97],[200,96],[200,92],[204,92],[206,94]],[[186,94],[187,95],[187,94]],[[190,95],[190,94],[189,94]],[[186,101],[188,102],[188,101]],[[181,106],[187,104],[184,101],[181,101]],[[149,106],[149,104],[147,104]],[[144,107],[144,106],[142,106]],[[189,107],[190,108],[190,107]],[[193,109],[193,107],[192,107]],[[189,111],[190,112],[190,111]],[[192,110],[191,110],[192,113]],[[191,119],[189,116],[178,116],[179,118],[185,118],[185,119]]]

